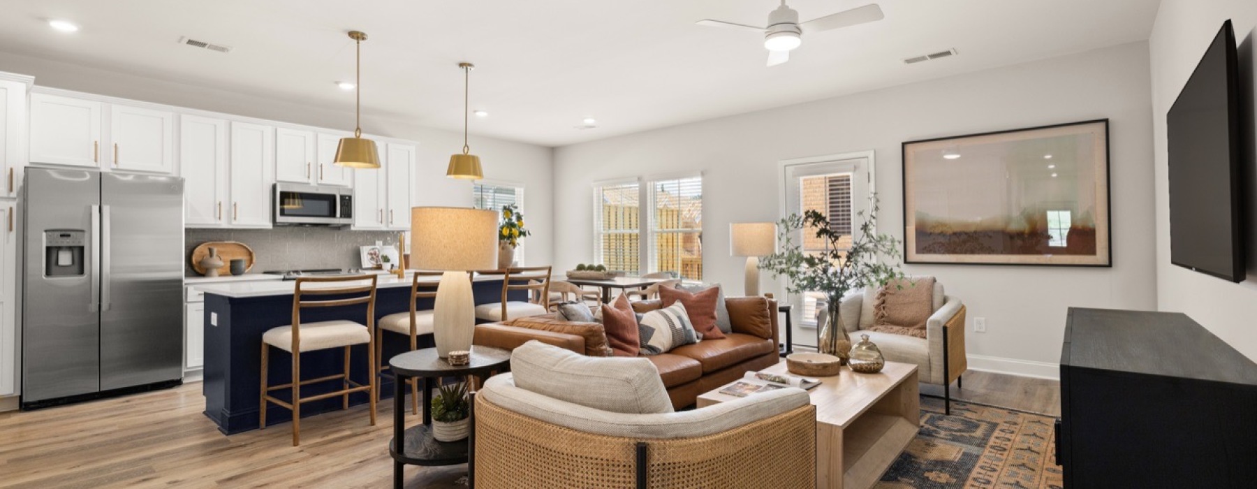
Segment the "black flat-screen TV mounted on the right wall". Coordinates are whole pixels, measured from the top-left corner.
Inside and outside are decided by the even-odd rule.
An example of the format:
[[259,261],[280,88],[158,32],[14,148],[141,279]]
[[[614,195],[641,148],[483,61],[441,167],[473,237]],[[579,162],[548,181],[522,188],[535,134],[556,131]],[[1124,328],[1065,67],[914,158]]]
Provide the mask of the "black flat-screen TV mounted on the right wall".
[[1236,34],[1228,20],[1166,116],[1170,261],[1244,279],[1243,133]]

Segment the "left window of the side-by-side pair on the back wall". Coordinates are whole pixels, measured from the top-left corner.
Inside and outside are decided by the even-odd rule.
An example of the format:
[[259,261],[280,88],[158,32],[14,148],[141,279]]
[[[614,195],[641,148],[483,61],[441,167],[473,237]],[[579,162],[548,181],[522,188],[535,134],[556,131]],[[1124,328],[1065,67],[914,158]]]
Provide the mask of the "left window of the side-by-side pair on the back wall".
[[595,260],[608,270],[641,274],[641,201],[637,182],[595,187]]

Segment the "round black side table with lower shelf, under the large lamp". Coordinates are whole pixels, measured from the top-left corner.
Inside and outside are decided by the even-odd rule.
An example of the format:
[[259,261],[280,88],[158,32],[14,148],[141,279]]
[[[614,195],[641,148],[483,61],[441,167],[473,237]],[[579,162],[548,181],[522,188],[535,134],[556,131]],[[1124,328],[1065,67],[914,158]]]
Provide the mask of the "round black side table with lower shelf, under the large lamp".
[[[430,378],[476,376],[483,382],[490,373],[505,371],[510,366],[510,352],[502,348],[471,347],[471,362],[453,366],[436,356],[436,348],[424,348],[401,353],[388,361],[393,378],[393,439],[388,444],[388,454],[393,458],[393,488],[402,486],[402,466],[405,465],[470,465],[470,439],[460,441],[436,441],[432,437],[432,391]],[[424,424],[406,427],[406,382],[419,378],[424,392]],[[471,426],[475,436],[475,426]],[[400,448],[400,449],[398,449]],[[474,474],[469,474],[469,485]]]

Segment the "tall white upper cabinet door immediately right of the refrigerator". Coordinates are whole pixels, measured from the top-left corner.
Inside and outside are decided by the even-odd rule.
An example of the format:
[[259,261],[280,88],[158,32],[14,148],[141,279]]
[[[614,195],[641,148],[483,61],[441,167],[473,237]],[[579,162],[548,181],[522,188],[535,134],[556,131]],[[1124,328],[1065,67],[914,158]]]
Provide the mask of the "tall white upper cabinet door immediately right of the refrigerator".
[[228,224],[228,122],[197,116],[178,119],[178,173],[184,177],[184,225]]

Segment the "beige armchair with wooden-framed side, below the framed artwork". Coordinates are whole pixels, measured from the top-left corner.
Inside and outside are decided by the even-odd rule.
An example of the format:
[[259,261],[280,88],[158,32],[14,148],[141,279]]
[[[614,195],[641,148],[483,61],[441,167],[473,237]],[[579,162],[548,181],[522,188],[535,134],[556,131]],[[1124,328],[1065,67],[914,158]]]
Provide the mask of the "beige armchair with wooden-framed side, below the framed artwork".
[[965,307],[960,299],[947,295],[943,284],[934,282],[933,314],[925,323],[925,338],[869,331],[874,324],[876,293],[857,290],[842,299],[842,323],[851,342],[860,334],[877,344],[887,361],[914,363],[921,382],[943,386],[944,411],[952,414],[952,382],[962,386],[960,376],[969,368],[964,349]]

